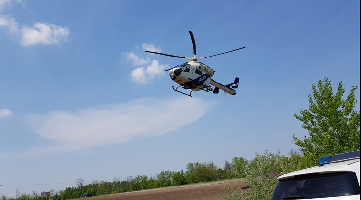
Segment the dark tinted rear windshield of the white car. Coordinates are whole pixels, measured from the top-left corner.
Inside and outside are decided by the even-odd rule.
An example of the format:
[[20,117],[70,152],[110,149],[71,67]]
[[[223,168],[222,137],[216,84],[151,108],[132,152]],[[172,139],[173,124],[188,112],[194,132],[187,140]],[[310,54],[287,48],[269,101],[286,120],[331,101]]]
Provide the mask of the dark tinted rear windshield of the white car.
[[272,200],[313,199],[360,194],[355,172],[305,174],[280,180]]

